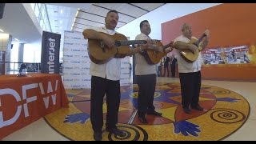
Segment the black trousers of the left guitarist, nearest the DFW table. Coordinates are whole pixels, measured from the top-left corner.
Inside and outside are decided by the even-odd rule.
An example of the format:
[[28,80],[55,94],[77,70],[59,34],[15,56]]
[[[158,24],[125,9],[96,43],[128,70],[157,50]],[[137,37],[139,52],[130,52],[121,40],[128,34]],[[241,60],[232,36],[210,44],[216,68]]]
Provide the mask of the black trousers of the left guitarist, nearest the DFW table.
[[116,128],[120,104],[120,81],[106,78],[91,77],[90,92],[90,121],[94,132],[102,132],[103,126],[103,97],[106,94],[106,127]]

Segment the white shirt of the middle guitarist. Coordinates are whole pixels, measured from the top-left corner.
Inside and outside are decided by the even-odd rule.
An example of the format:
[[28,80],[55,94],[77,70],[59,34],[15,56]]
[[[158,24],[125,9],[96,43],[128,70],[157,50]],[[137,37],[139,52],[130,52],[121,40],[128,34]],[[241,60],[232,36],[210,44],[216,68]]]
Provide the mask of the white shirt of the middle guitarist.
[[[151,39],[146,34],[138,34],[135,40],[146,40]],[[157,74],[157,65],[150,65],[146,62],[146,59],[142,56],[142,54],[135,54],[135,75],[146,75],[146,74]]]

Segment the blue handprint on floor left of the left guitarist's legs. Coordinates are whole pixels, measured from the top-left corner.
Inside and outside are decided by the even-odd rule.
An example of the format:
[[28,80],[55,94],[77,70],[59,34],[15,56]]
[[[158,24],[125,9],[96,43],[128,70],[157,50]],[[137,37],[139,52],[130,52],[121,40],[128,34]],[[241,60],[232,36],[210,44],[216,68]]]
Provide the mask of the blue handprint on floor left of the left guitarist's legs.
[[78,114],[70,114],[70,115],[67,115],[66,118],[65,118],[65,121],[64,122],[70,122],[70,123],[74,123],[74,122],[79,122],[81,121],[80,123],[85,123],[86,120],[90,118],[90,115],[89,114],[85,114],[85,113],[78,113]]

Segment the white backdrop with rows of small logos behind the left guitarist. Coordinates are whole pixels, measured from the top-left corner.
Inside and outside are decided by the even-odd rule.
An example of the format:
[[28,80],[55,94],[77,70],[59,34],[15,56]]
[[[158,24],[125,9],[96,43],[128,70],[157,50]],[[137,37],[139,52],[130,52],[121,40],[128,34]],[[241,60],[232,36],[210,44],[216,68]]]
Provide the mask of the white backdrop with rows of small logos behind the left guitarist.
[[[90,58],[87,40],[77,31],[64,31],[63,83],[66,89],[90,88]],[[121,86],[130,85],[130,57],[121,60]]]

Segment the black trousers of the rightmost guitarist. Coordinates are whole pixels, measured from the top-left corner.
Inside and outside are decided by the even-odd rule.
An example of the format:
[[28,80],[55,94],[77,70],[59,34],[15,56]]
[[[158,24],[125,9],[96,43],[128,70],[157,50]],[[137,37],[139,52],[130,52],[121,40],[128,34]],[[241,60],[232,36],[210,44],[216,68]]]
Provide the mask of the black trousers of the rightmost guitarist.
[[179,73],[182,89],[182,107],[197,106],[201,89],[201,71]]

